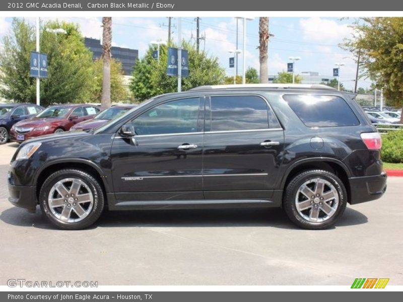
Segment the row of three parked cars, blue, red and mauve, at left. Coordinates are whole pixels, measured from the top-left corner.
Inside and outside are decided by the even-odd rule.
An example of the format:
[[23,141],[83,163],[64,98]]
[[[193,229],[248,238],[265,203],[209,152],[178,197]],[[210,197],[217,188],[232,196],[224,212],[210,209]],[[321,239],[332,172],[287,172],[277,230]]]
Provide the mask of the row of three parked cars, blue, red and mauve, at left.
[[[69,130],[88,131],[112,120],[135,105],[116,105],[101,112],[96,105],[0,104],[0,144]],[[98,114],[99,113],[99,114]]]

